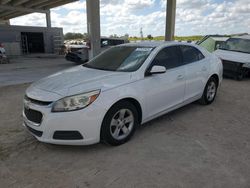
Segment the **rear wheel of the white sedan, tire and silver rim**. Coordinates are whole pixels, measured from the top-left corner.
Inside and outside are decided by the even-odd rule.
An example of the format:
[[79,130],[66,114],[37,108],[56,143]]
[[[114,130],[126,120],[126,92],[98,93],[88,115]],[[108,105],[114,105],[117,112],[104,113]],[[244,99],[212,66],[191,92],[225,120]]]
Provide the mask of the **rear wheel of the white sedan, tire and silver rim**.
[[202,105],[212,104],[216,98],[217,89],[218,89],[217,80],[214,77],[211,77],[206,84],[201,99],[199,100],[200,104]]

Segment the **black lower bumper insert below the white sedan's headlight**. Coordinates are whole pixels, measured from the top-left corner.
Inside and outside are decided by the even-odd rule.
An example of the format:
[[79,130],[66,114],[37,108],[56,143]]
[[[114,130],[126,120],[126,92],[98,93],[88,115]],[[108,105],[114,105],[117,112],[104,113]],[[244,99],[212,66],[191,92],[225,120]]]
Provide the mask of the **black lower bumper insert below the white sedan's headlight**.
[[56,131],[53,135],[55,140],[82,140],[83,136],[78,131]]

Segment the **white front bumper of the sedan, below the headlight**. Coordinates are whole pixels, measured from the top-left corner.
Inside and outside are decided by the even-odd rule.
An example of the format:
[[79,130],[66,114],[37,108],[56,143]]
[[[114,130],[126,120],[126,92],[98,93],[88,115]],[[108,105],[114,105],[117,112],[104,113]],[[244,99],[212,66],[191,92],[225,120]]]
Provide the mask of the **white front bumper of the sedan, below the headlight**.
[[[41,142],[60,145],[90,145],[100,141],[100,129],[106,110],[95,103],[73,112],[51,112],[51,105],[40,106],[37,104],[25,104],[24,108],[36,110],[42,113],[41,123],[35,123],[26,117],[23,110],[23,125],[35,138]],[[82,139],[58,139],[55,133],[78,132]],[[56,139],[55,139],[56,138]]]

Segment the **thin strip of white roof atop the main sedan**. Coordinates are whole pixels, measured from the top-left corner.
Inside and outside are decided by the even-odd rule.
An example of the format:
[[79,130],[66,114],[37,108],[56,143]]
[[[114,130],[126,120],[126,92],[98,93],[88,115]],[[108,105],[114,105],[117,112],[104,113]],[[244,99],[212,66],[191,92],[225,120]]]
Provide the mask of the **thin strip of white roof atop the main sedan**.
[[190,45],[193,46],[193,44],[190,43],[183,43],[183,42],[174,42],[174,41],[144,41],[144,42],[133,42],[133,43],[126,43],[122,44],[121,46],[133,46],[133,47],[151,47],[156,48],[160,46],[165,45]]

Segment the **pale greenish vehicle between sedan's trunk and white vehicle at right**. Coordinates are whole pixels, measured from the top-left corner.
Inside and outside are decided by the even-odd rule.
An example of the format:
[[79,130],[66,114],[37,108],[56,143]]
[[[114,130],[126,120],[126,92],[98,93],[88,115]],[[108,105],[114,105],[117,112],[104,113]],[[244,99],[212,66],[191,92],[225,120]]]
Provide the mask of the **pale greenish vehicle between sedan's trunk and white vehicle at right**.
[[203,39],[197,42],[198,45],[207,49],[209,52],[214,52],[219,49],[220,46],[225,44],[225,42],[229,39],[229,37],[221,36],[221,35],[207,35]]

